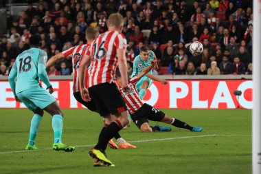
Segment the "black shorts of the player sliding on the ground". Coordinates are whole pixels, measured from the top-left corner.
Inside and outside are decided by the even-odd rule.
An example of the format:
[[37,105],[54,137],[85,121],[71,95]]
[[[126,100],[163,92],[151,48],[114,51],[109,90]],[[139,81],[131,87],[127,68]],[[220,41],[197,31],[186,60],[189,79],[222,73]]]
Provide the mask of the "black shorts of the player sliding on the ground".
[[148,122],[148,120],[161,122],[164,116],[165,113],[163,113],[163,111],[159,111],[158,109],[144,103],[137,112],[131,114],[131,119],[140,129],[141,125]]

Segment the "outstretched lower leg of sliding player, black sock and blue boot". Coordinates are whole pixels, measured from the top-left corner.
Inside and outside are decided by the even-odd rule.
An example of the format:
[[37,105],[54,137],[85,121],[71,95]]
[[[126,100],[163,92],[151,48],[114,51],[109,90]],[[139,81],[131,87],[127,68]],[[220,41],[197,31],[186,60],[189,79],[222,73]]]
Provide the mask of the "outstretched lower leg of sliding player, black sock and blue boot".
[[201,132],[203,131],[202,127],[191,127],[189,124],[178,120],[177,118],[172,118],[170,116],[165,115],[161,122],[165,122],[167,124],[172,124],[174,127],[179,127],[183,129],[188,129],[194,132]]

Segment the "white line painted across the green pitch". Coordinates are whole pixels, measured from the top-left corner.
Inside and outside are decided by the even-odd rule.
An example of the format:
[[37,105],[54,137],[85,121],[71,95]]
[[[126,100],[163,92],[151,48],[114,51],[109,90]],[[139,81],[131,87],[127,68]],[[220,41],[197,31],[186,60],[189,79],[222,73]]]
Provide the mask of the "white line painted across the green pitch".
[[[218,135],[218,134],[211,134],[211,135],[198,135],[198,136],[185,136],[185,137],[174,137],[174,138],[159,138],[159,139],[148,139],[148,140],[133,140],[129,142],[154,142],[154,141],[164,141],[164,140],[178,140],[178,139],[186,139],[186,138],[201,138],[201,137],[214,137],[214,136],[239,136],[239,137],[251,137],[251,135]],[[95,146],[95,144],[85,144],[85,145],[76,145],[75,147],[88,147],[88,146]],[[47,151],[52,150],[52,148],[45,148],[45,149],[38,149],[35,151]],[[23,153],[23,152],[32,152],[32,151],[6,151],[0,152],[1,154],[10,154],[10,153]]]

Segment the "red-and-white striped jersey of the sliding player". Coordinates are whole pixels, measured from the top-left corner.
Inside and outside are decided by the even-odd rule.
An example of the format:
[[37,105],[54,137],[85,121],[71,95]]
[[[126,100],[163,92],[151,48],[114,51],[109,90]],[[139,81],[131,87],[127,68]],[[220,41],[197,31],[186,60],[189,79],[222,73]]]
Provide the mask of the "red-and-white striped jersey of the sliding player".
[[120,94],[122,94],[122,97],[124,98],[124,101],[126,102],[126,106],[129,113],[135,113],[139,110],[139,108],[144,105],[144,103],[139,99],[139,94],[137,93],[137,89],[135,87],[135,83],[137,83],[139,79],[137,76],[134,76],[133,78],[128,80],[128,85],[131,87],[131,91],[124,92],[122,91],[122,87],[120,86],[120,83],[117,83],[119,86]]

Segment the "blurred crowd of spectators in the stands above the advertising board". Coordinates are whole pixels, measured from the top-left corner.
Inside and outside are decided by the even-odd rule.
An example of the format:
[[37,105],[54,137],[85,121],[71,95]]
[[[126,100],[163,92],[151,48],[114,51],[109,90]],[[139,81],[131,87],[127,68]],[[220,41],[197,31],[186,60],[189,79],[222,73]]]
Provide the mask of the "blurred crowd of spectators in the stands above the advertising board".
[[[8,75],[16,56],[29,48],[32,34],[41,36],[42,49],[50,58],[86,43],[84,30],[89,25],[104,32],[113,12],[124,17],[130,74],[142,45],[157,56],[159,70],[154,74],[252,74],[252,0],[33,2],[27,1],[19,17],[8,19],[8,33],[0,41],[0,76]],[[203,43],[203,54],[190,54],[193,41]],[[69,74],[70,60],[49,69],[50,76]]]

